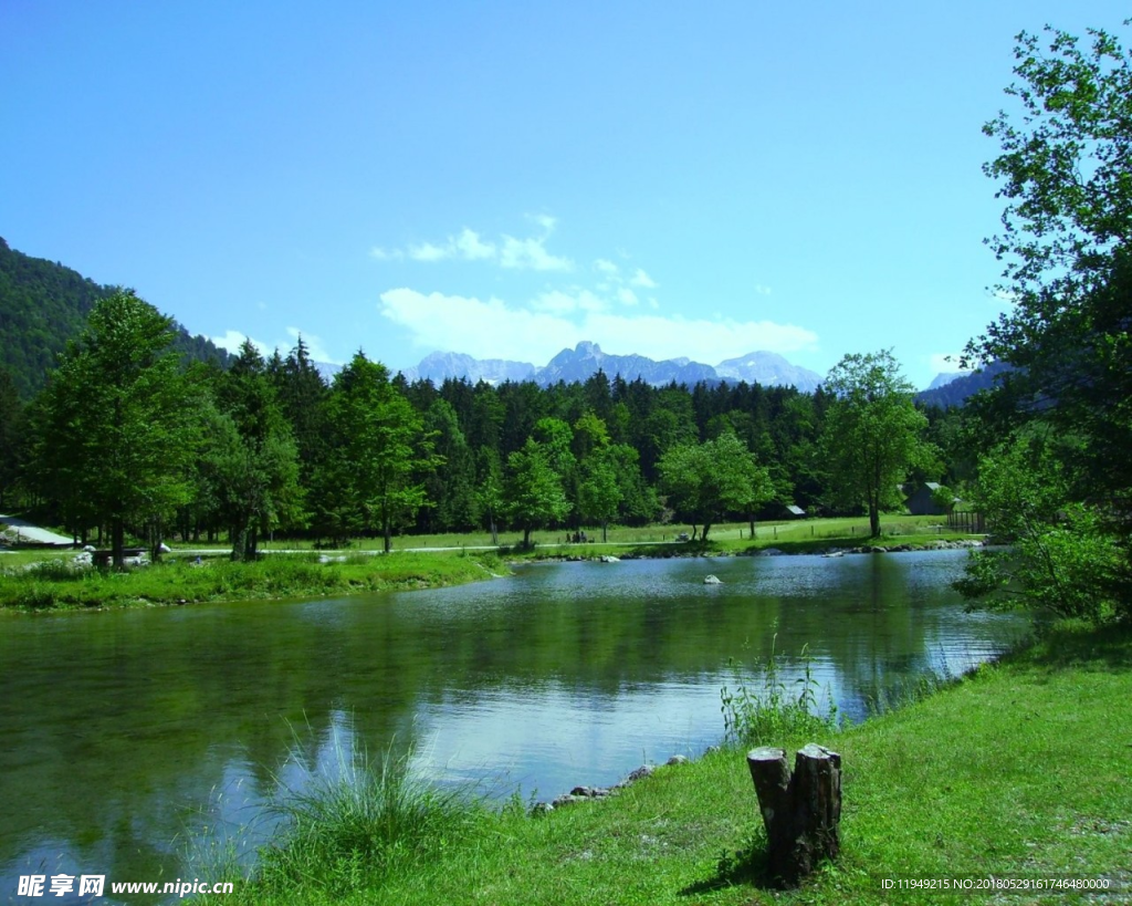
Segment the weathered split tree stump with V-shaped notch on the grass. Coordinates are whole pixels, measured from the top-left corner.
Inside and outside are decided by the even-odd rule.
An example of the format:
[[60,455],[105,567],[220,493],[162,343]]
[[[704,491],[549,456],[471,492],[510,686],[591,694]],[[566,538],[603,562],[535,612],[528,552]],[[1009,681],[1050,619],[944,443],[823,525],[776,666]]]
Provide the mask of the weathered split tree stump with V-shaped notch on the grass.
[[791,776],[784,749],[753,749],[747,767],[766,826],[770,877],[796,887],[841,852],[841,755],[811,743],[798,751]]

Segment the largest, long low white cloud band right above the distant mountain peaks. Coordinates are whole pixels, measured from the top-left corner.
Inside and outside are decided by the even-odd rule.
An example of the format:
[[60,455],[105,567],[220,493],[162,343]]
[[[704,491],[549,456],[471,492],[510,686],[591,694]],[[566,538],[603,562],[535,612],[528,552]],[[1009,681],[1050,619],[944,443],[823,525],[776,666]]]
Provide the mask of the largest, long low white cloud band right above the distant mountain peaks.
[[405,327],[417,347],[538,365],[581,340],[597,341],[607,352],[619,354],[688,356],[706,362],[756,349],[787,353],[817,344],[813,331],[792,324],[614,314],[599,304],[585,291],[543,293],[526,308],[494,297],[484,301],[438,292],[426,296],[401,288],[381,293],[378,309]]

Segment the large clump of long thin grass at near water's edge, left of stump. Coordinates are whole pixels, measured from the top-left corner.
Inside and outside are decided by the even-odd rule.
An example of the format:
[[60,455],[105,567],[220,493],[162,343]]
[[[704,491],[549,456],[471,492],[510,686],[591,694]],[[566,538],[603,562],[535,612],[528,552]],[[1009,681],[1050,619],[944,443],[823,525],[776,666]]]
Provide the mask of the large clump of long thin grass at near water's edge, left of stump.
[[277,805],[277,840],[260,852],[254,883],[268,895],[300,890],[340,898],[419,870],[465,841],[487,814],[460,792],[414,775],[408,757],[386,752],[340,758],[321,777]]

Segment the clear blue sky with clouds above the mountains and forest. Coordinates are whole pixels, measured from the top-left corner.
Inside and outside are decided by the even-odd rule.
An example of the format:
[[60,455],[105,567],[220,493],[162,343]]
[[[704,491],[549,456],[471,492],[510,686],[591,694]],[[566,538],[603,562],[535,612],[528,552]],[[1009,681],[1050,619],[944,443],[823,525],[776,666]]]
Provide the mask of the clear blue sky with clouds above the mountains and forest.
[[0,5],[0,236],[194,333],[926,385],[1003,302],[1013,36],[1124,5]]

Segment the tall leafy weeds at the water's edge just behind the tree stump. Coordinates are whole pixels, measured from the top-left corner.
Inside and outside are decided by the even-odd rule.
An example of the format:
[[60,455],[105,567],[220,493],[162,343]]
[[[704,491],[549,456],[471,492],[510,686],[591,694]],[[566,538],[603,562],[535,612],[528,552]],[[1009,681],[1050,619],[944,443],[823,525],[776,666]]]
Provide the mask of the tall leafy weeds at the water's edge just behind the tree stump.
[[[748,685],[741,665],[732,661],[736,685],[720,691],[723,728],[729,742],[741,746],[782,744],[784,740],[831,733],[838,728],[838,710],[829,692],[814,678],[808,646],[803,646],[803,675],[787,685],[784,657],[778,653],[778,633],[762,670],[761,685]],[[791,689],[792,686],[792,689]],[[822,699],[825,699],[823,706]]]

